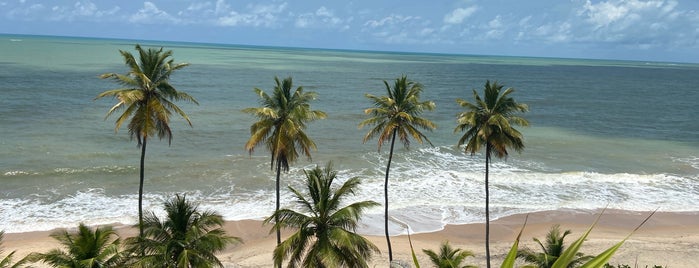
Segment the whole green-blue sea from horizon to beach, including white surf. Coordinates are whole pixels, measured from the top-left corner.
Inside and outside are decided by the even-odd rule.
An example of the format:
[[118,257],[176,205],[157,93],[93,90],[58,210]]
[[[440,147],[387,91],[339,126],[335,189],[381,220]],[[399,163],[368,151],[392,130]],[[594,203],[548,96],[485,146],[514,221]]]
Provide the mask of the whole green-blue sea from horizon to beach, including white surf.
[[[93,101],[116,88],[99,79],[124,73],[119,49],[136,41],[0,35],[0,230],[24,232],[137,219],[140,151],[124,128],[114,133],[114,104]],[[699,65],[586,59],[519,58],[335,51],[140,42],[174,51],[191,66],[172,83],[196,97],[182,103],[194,127],[174,118],[174,139],[149,143],[145,207],[159,211],[186,193],[227,220],[261,219],[274,210],[269,152],[243,149],[258,105],[254,87],[292,76],[316,91],[328,118],[309,124],[318,145],[282,175],[299,186],[302,169],[333,161],[343,179],[362,179],[355,200],[381,202],[386,149],[362,144],[357,129],[384,94],[382,80],[402,74],[424,85],[437,109],[434,147],[397,147],[390,177],[391,214],[413,231],[483,221],[482,154],[455,147],[456,98],[471,98],[487,79],[514,87],[531,127],[525,150],[491,169],[495,217],[549,209],[699,211]],[[283,205],[291,195],[283,191]],[[380,234],[382,209],[368,211],[364,233]],[[402,232],[393,226],[394,233]]]

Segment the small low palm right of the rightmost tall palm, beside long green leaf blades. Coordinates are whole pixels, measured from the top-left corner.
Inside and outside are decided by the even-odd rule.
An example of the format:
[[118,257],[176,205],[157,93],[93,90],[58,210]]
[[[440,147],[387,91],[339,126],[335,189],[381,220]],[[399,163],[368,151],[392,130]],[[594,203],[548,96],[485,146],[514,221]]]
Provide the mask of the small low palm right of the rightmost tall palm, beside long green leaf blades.
[[[542,252],[537,253],[531,249],[523,249],[517,253],[517,257],[533,264],[527,267],[550,268],[565,250],[563,240],[570,233],[570,230],[565,230],[565,232],[561,234],[560,226],[554,225],[546,234],[546,243],[542,243],[539,239],[534,238],[534,241],[539,244]],[[570,264],[568,264],[568,268],[578,267],[580,264],[593,258],[593,256],[586,256],[580,252],[576,253],[575,256],[576,258]]]

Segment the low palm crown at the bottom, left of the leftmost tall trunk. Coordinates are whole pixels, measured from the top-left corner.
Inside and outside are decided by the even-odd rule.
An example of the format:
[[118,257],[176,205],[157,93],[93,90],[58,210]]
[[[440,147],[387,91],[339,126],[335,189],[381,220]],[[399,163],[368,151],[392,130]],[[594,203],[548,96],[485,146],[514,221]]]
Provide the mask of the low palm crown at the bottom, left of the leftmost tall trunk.
[[60,268],[106,268],[121,267],[120,239],[111,226],[91,230],[84,224],[75,233],[57,231],[51,237],[58,240],[67,251],[53,249],[30,258]]

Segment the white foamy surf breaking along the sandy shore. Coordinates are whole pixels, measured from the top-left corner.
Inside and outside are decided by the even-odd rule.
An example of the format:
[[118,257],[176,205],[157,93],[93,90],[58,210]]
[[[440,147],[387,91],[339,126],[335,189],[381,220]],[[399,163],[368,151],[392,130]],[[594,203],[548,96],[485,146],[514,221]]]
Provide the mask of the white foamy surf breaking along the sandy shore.
[[[385,155],[364,155],[365,168],[339,170],[340,182],[360,177],[358,194],[348,202],[374,200],[383,203]],[[689,160],[695,161],[695,160]],[[699,211],[697,177],[669,174],[602,174],[595,172],[546,173],[517,166],[521,162],[497,161],[490,168],[491,217],[551,209]],[[394,156],[389,179],[391,233],[441,229],[445,224],[482,222],[484,219],[484,167],[481,157],[449,148],[402,151]],[[301,176],[306,165],[292,168],[289,178]],[[522,166],[531,166],[524,163]],[[114,170],[114,169],[109,169]],[[118,169],[117,169],[118,170]],[[299,179],[287,179],[298,189]],[[235,185],[214,191],[185,192],[201,209],[214,210],[227,220],[263,219],[274,210],[271,188],[243,190]],[[147,193],[144,208],[162,215],[162,202],[174,193]],[[58,193],[56,193],[58,195]],[[77,191],[55,197],[34,195],[0,199],[0,229],[7,232],[49,230],[87,224],[134,224],[137,196],[109,195],[104,189]],[[282,204],[293,199],[282,189]],[[383,233],[383,208],[367,211],[360,231]]]

